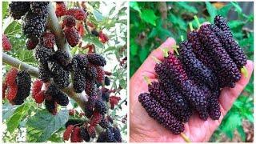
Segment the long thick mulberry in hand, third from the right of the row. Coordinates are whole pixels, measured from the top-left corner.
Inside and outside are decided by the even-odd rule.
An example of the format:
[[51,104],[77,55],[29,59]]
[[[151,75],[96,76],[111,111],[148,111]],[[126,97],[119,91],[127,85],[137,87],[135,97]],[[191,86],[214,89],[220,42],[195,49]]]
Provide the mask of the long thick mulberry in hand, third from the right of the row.
[[241,78],[241,74],[233,60],[223,49],[222,44],[218,41],[218,38],[210,30],[209,25],[203,25],[198,31],[202,42],[207,46],[211,55],[214,55],[214,60],[219,66],[220,86],[234,87],[234,82],[237,82]]

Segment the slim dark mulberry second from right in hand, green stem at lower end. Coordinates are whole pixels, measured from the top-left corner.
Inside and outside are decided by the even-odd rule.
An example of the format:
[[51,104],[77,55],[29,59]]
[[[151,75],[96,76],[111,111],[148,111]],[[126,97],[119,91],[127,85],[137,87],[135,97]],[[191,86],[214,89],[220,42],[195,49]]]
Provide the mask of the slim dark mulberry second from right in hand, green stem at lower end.
[[241,69],[242,66],[246,66],[246,55],[243,53],[242,48],[235,42],[233,37],[220,30],[217,26],[209,25],[210,29],[214,31],[214,34],[218,37],[219,41],[222,43],[223,48],[226,50],[230,58]]

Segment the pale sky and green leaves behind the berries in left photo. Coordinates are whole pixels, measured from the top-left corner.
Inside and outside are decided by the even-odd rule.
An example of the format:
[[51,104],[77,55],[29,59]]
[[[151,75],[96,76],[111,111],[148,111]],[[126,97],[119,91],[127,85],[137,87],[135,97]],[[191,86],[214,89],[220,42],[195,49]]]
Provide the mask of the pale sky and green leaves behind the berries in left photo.
[[[32,66],[38,66],[38,62],[33,57],[33,51],[26,50],[26,38],[22,34],[22,21],[14,21],[8,14],[8,2],[2,2],[2,34],[6,34],[12,43],[12,50],[8,51],[14,58],[26,62]],[[66,2],[66,6],[74,7],[76,2]],[[82,38],[85,44],[94,44],[97,53],[106,58],[107,65],[104,70],[112,72],[110,76],[109,89],[122,90],[112,93],[121,98],[118,106],[114,110],[108,110],[111,118],[114,118],[114,125],[121,130],[123,142],[127,142],[127,70],[126,63],[120,65],[120,61],[127,57],[126,35],[127,35],[127,2],[88,2],[90,12],[88,19],[102,30],[110,39],[106,44],[102,44],[91,34],[85,34]],[[72,54],[78,52],[85,53],[78,47],[71,50]],[[3,65],[2,75],[10,70],[11,66]],[[32,80],[35,80],[33,78]],[[109,103],[107,103],[109,105]],[[58,114],[53,116],[45,110],[43,105],[37,105],[34,99],[29,97],[21,106],[11,106],[6,100],[2,102],[2,122],[4,142],[63,142],[62,133],[65,130],[65,123],[69,118],[68,110],[82,110],[70,99],[70,104],[66,107],[58,106]],[[73,118],[73,117],[72,117]],[[78,118],[78,114],[74,116]]]

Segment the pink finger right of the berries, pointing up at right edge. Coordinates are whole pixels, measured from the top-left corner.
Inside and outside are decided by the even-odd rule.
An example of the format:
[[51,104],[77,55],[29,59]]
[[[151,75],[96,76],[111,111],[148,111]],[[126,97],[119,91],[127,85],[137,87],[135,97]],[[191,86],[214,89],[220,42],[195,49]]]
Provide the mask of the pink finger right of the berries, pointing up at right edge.
[[226,112],[230,110],[236,98],[238,98],[239,94],[241,94],[242,90],[249,82],[250,76],[254,69],[254,63],[252,61],[247,61],[246,69],[248,70],[247,78],[245,78],[244,75],[242,74],[241,79],[238,82],[236,82],[234,88],[223,88],[222,90],[220,104],[223,107],[224,114],[226,114]]

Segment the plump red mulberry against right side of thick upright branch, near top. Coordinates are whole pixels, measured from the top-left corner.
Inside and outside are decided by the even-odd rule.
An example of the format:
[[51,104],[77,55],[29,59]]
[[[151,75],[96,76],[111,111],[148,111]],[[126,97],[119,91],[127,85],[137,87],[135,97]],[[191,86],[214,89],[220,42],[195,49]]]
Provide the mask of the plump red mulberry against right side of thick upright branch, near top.
[[80,36],[78,30],[75,27],[66,27],[64,30],[66,40],[69,42],[70,46],[74,47],[78,45]]

